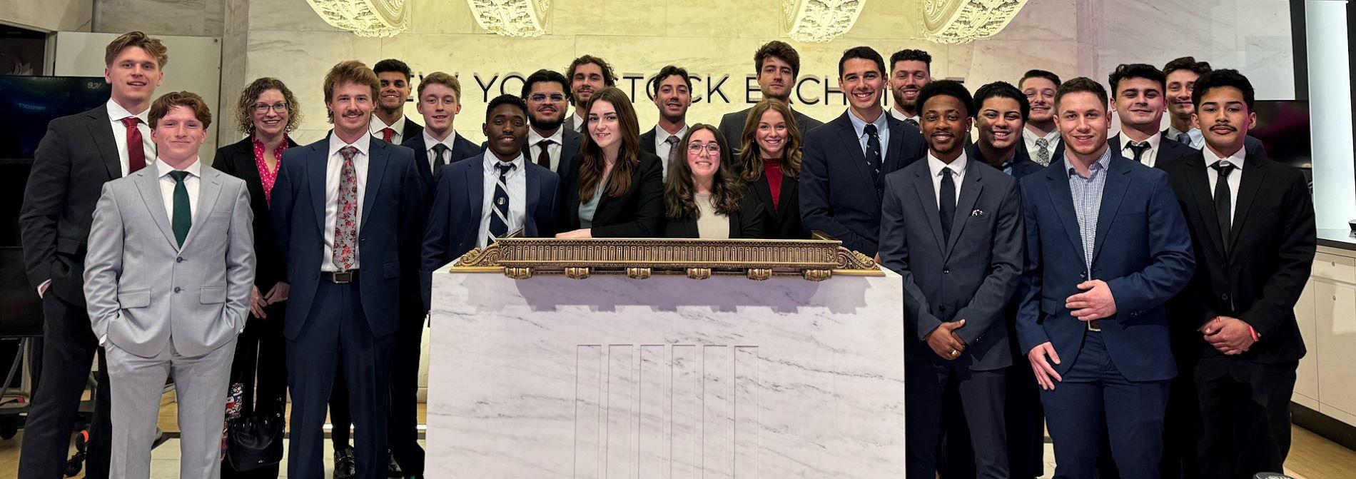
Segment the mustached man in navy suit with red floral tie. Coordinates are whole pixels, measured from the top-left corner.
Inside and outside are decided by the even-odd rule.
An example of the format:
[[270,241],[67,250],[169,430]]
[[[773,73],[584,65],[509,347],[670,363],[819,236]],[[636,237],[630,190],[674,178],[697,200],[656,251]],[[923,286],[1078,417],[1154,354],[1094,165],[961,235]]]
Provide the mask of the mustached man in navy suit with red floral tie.
[[[287,263],[287,476],[319,479],[325,403],[343,362],[358,478],[386,475],[386,398],[401,285],[418,274],[424,183],[410,148],[367,133],[377,75],[358,61],[324,81],[335,128],[289,148],[273,189],[273,225]],[[418,278],[418,277],[416,277]],[[415,280],[418,282],[418,280]]]

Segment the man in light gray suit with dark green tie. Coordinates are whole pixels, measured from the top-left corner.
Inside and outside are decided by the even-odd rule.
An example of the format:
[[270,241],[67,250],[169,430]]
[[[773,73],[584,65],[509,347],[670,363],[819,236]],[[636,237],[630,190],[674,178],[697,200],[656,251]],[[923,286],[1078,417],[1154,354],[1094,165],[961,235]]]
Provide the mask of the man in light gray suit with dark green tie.
[[151,476],[171,375],[179,476],[214,479],[231,360],[254,284],[254,213],[244,180],[198,161],[212,123],[201,96],[160,96],[149,123],[160,157],[104,183],[85,256],[85,304],[113,383],[110,476]]

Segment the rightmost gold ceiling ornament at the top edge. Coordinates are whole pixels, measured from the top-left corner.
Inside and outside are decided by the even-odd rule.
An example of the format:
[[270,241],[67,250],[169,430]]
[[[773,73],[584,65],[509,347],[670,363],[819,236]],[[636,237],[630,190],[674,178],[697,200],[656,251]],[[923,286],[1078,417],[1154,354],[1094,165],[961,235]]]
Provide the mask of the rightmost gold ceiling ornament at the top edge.
[[1026,0],[923,0],[923,37],[968,43],[1003,30]]

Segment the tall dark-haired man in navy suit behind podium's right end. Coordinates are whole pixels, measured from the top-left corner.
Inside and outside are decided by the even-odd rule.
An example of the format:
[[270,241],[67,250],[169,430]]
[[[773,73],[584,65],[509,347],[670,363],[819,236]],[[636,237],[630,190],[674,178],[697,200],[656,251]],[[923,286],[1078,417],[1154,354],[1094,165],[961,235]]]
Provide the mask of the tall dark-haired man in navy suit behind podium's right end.
[[876,255],[880,233],[880,178],[925,153],[917,128],[885,114],[885,60],[866,46],[843,52],[838,88],[848,111],[805,136],[800,164],[800,217],[807,232],[822,231],[849,250]]

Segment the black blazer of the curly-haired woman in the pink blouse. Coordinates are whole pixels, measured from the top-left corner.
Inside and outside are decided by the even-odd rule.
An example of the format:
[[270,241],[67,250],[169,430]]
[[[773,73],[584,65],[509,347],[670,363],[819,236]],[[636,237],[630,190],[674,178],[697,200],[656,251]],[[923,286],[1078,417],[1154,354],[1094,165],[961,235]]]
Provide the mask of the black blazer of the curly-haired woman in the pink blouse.
[[[297,148],[297,142],[286,138],[287,149]],[[231,176],[245,180],[250,189],[250,210],[254,212],[255,232],[255,286],[259,292],[267,292],[278,281],[287,280],[287,265],[282,259],[282,250],[278,248],[277,233],[273,231],[273,217],[268,216],[268,201],[263,194],[263,179],[259,178],[259,167],[254,157],[254,138],[244,140],[217,148],[217,157],[212,160],[212,167]],[[278,163],[282,168],[282,161]]]

